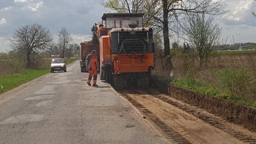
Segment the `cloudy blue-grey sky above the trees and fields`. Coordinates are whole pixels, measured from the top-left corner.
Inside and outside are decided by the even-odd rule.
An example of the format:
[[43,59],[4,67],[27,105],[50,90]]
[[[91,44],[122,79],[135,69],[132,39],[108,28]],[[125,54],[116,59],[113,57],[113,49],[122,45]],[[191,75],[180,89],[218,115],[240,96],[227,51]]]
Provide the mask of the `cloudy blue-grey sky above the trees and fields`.
[[[91,39],[91,27],[101,21],[107,11],[102,0],[0,0],[0,52],[9,48],[9,38],[22,25],[39,23],[50,29],[57,40],[61,27],[66,27],[73,42]],[[214,0],[216,1],[216,0]],[[228,43],[256,42],[256,11],[253,0],[220,0],[228,14],[216,17],[222,27],[222,37]]]

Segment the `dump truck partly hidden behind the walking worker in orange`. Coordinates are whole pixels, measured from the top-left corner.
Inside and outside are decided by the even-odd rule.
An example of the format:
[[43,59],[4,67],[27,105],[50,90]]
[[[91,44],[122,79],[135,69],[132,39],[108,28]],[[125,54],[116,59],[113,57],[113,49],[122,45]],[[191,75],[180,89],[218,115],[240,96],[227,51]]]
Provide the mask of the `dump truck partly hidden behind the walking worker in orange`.
[[85,65],[85,58],[88,54],[91,54],[92,50],[96,50],[98,62],[100,61],[100,54],[99,54],[99,45],[92,45],[89,41],[84,41],[80,44],[80,67],[81,72],[87,72],[86,71],[86,65]]

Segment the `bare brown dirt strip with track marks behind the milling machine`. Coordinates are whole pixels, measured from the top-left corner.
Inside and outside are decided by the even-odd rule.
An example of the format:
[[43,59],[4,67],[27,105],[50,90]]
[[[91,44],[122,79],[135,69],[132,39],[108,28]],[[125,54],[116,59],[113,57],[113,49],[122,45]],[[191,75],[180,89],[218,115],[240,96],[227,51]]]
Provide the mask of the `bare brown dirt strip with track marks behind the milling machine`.
[[143,90],[120,91],[174,144],[256,144],[256,134],[201,109]]

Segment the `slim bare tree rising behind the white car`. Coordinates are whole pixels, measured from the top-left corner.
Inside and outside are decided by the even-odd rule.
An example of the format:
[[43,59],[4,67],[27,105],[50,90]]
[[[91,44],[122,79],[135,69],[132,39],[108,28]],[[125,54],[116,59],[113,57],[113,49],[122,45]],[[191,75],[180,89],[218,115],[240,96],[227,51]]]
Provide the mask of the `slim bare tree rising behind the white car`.
[[61,28],[58,36],[59,36],[58,45],[60,46],[60,49],[62,50],[61,57],[64,58],[66,49],[67,49],[69,43],[72,42],[72,38],[68,34],[68,31],[65,27]]

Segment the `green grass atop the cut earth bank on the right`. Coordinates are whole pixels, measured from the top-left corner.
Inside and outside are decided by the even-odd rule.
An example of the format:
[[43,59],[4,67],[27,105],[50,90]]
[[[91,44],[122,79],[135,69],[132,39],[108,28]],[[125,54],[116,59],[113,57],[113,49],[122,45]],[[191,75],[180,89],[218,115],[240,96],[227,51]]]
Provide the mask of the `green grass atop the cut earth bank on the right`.
[[202,94],[206,94],[212,97],[220,99],[226,99],[238,104],[247,105],[256,108],[256,101],[235,99],[231,94],[222,94],[222,92],[215,86],[204,84],[201,81],[195,80],[190,77],[184,77],[181,79],[174,80],[174,85],[186,90],[197,91]]

